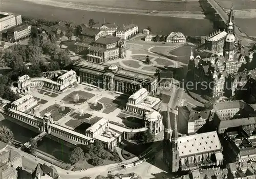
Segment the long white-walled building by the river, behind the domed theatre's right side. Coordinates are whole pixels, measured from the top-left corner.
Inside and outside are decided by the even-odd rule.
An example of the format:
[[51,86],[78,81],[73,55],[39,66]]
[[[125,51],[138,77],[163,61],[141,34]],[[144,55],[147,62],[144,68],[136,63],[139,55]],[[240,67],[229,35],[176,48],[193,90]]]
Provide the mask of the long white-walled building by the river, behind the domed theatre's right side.
[[119,27],[116,31],[116,37],[120,39],[127,40],[139,33],[139,27],[135,24],[123,25],[122,28]]

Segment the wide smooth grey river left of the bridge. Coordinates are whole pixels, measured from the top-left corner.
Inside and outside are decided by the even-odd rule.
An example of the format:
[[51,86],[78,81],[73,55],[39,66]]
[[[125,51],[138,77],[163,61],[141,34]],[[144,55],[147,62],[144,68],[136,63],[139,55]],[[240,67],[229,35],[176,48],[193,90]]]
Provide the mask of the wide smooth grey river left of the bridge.
[[[39,1],[39,0],[38,0]],[[132,0],[131,0],[132,1]],[[180,31],[186,36],[208,35],[214,31],[213,23],[208,19],[187,19],[177,17],[160,17],[136,14],[118,14],[106,12],[92,12],[69,8],[58,8],[53,6],[38,5],[22,0],[2,0],[0,1],[0,11],[13,12],[32,18],[44,18],[48,20],[66,20],[76,23],[88,22],[90,18],[95,21],[115,22],[119,25],[133,23],[139,25],[142,30],[148,26],[152,28],[154,34],[168,34],[173,31]]]

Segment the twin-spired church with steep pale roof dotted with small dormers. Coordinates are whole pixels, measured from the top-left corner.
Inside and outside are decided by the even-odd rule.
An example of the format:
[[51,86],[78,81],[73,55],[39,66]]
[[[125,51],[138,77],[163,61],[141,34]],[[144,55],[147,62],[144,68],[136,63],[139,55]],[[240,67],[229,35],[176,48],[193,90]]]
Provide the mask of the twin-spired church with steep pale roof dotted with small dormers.
[[224,161],[216,131],[179,137],[176,115],[173,127],[170,127],[169,108],[164,131],[163,160],[170,172],[194,170],[206,165],[221,166]]

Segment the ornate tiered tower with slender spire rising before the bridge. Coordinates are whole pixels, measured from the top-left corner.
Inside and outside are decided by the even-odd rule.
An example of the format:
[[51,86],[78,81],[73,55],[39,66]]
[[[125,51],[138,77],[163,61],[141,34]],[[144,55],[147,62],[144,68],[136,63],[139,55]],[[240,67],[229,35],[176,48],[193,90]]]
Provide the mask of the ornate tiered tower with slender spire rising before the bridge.
[[232,22],[232,9],[229,13],[229,20],[227,24],[227,36],[224,42],[223,47],[223,56],[231,61],[234,57],[234,41],[236,41],[236,37],[234,37],[234,24]]

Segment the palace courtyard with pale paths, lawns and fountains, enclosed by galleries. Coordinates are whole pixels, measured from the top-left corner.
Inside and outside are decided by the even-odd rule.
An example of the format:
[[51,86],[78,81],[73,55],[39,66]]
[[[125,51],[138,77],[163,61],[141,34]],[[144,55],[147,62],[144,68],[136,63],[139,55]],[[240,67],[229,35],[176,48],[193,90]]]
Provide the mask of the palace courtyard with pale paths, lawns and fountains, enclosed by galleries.
[[[123,118],[118,115],[123,110],[128,96],[102,89],[88,88],[81,84],[75,89],[69,88],[54,98],[45,95],[48,92],[50,91],[46,89],[31,91],[38,103],[42,101],[39,103],[38,109],[35,110],[35,115],[44,116],[46,112],[51,112],[53,120],[59,125],[78,132],[85,131],[102,117],[125,125]],[[81,103],[77,103],[77,101]]]

